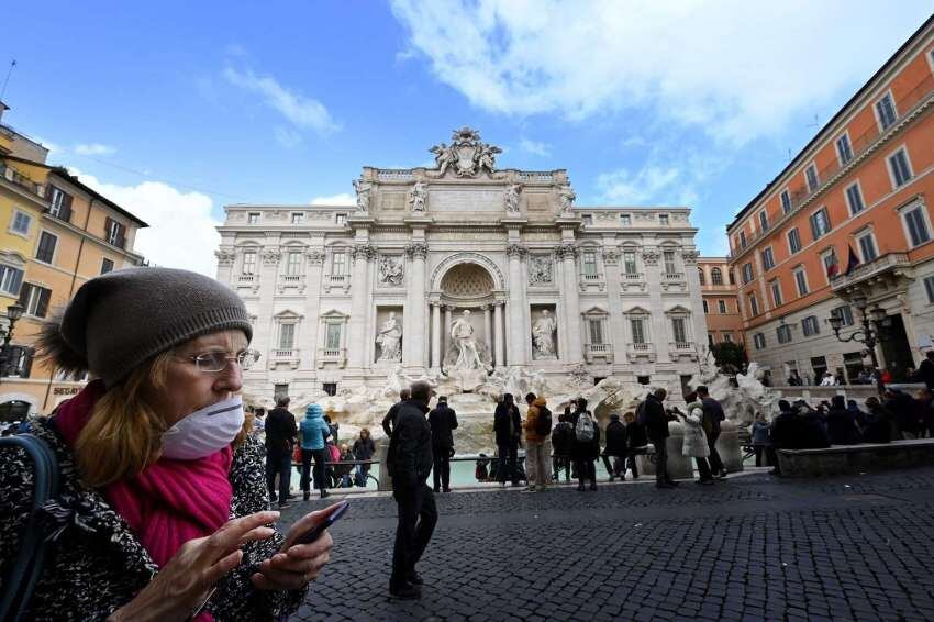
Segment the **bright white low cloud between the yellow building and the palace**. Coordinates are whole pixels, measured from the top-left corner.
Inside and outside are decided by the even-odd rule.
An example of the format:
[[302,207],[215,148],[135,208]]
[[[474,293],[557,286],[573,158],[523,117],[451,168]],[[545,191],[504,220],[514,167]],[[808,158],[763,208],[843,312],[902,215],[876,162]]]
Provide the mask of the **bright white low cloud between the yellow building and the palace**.
[[216,276],[214,251],[221,222],[211,215],[211,198],[201,192],[182,192],[162,181],[119,186],[91,175],[74,171],[80,180],[148,223],[136,233],[134,251],[152,265],[185,268]]

